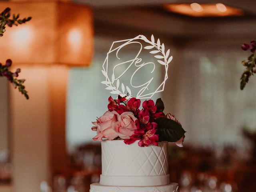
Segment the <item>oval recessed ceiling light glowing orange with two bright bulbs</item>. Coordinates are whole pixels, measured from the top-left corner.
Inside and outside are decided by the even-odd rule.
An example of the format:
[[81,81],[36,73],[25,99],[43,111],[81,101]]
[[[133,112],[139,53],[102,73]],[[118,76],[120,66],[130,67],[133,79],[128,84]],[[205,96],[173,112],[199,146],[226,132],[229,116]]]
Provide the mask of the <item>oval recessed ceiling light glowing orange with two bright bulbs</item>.
[[167,4],[164,8],[170,12],[193,16],[193,17],[223,17],[223,16],[242,16],[241,9],[218,4]]

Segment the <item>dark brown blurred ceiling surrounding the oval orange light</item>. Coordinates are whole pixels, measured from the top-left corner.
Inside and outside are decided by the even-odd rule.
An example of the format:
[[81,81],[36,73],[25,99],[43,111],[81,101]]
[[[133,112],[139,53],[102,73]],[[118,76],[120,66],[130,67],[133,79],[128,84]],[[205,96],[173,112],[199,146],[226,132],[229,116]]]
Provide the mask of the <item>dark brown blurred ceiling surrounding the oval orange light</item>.
[[193,18],[164,10],[166,3],[193,3],[188,0],[76,0],[94,9],[96,33],[160,34],[176,40],[213,38],[250,39],[256,34],[255,0],[197,0],[197,3],[240,8],[246,16],[227,18]]

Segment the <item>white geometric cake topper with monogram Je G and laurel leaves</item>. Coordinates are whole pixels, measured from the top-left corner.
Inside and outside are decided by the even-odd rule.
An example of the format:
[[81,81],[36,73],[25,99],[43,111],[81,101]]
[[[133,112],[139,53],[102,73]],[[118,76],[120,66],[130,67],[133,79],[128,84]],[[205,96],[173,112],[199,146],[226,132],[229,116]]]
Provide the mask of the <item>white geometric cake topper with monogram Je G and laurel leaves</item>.
[[[145,62],[142,62],[141,58],[138,58],[142,48],[140,49],[140,52],[138,53],[136,58],[134,58],[133,60],[128,61],[128,62],[130,62],[128,68],[126,68],[126,70],[124,70],[124,72],[120,76],[117,76],[117,77],[115,76],[116,67],[118,67],[122,64],[127,64],[128,62],[122,62],[120,64],[117,64],[113,68],[113,73],[110,76],[108,75],[108,73],[109,73],[109,71],[108,71],[108,60],[109,60],[108,56],[109,56],[109,54],[116,51],[116,58],[118,60],[121,60],[118,57],[118,52],[124,46],[127,46],[127,45],[132,44],[132,43],[136,43],[136,44],[140,44],[140,46],[143,47],[142,44],[138,40],[144,41],[145,43],[149,44],[149,45],[144,46],[144,49],[149,50],[150,54],[154,54],[154,58],[158,59],[157,60],[158,64],[161,64],[165,68],[165,76],[164,76],[163,82],[158,86],[158,88],[156,88],[156,90],[154,90],[150,93],[146,93],[146,94],[144,94],[144,92],[146,90],[149,91],[148,86],[152,82],[153,77],[148,82],[146,82],[142,85],[134,86],[132,84],[132,79],[133,79],[134,75],[142,67],[146,66],[147,64],[153,64],[154,68],[151,71],[151,73],[154,72],[154,70],[155,70],[155,64],[153,62],[145,63]],[[121,44],[120,46],[114,47],[115,44],[120,44],[120,43],[123,43],[123,44]],[[102,68],[103,68],[102,74],[105,76],[106,80],[102,81],[101,83],[106,85],[106,90],[111,90],[111,92],[110,92],[111,94],[117,94],[117,95],[119,94],[122,97],[126,96],[127,99],[129,99],[131,97],[136,97],[138,99],[152,98],[152,96],[154,96],[154,94],[156,94],[158,92],[162,92],[164,90],[165,82],[168,78],[168,74],[167,74],[168,64],[170,64],[171,61],[172,61],[172,56],[170,56],[170,49],[165,51],[164,43],[161,44],[159,39],[157,39],[157,41],[155,42],[155,38],[154,38],[153,35],[151,36],[151,40],[148,40],[144,35],[138,35],[138,36],[136,36],[135,38],[132,38],[132,39],[115,41],[115,42],[112,43],[112,46],[110,47],[110,50],[108,51],[106,59],[105,59],[104,64],[102,66]],[[130,78],[130,85],[128,85],[127,83],[124,83],[124,82],[120,82],[120,78],[127,72],[127,70],[132,65],[136,66],[137,69],[135,70],[135,72],[132,74],[132,76]],[[133,94],[132,90],[129,86],[131,86],[133,88],[139,88],[138,93]]]

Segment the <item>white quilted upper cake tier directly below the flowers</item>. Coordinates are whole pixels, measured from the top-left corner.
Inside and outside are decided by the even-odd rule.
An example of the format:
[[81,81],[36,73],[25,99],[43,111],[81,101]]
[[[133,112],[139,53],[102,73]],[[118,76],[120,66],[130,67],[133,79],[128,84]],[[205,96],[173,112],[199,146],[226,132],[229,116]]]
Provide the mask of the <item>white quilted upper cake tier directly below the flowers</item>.
[[158,146],[130,145],[123,140],[102,141],[102,175],[160,176],[168,174],[168,142]]

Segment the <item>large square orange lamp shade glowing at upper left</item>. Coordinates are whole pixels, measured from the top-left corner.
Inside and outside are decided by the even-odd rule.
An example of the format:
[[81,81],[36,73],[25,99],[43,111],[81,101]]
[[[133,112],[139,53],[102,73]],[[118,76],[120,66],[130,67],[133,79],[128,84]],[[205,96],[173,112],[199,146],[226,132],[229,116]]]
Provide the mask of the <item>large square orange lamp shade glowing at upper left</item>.
[[0,2],[20,18],[32,20],[6,26],[0,37],[0,61],[16,64],[66,64],[89,66],[93,55],[92,10],[71,2]]

